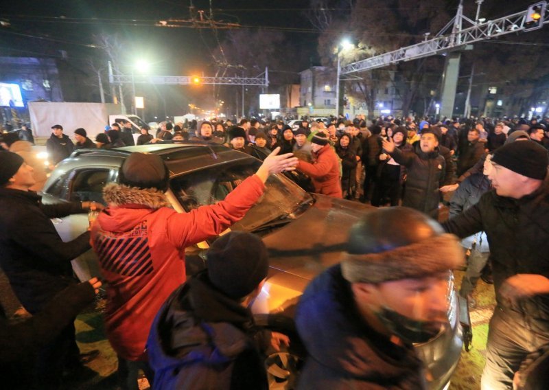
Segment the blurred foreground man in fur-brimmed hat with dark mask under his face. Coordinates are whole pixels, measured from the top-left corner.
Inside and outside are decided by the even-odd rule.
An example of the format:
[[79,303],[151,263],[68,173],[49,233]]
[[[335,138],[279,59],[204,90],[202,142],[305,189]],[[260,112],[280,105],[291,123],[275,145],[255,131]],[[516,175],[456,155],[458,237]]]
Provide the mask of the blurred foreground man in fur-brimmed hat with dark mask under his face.
[[318,275],[296,310],[307,348],[298,389],[425,389],[413,343],[449,326],[448,270],[458,240],[406,207],[364,215],[340,264]]

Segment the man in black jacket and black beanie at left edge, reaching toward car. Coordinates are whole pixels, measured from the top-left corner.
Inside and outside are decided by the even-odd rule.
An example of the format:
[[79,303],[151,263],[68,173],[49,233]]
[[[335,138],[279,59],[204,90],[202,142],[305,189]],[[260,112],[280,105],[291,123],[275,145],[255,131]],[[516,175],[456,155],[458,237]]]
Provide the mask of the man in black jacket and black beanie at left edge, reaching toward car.
[[[89,232],[63,242],[49,218],[84,213],[89,202],[43,205],[32,168],[18,154],[0,152],[0,266],[23,306],[35,314],[73,284],[71,260],[91,248]],[[44,388],[59,385],[67,354],[78,360],[74,324],[40,352],[36,377]],[[75,363],[76,364],[76,363]]]

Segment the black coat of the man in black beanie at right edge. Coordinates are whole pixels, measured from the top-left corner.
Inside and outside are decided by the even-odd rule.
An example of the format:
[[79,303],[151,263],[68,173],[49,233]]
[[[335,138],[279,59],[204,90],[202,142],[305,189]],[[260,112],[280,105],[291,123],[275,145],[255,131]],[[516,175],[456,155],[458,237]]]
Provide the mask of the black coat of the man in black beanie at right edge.
[[533,273],[549,277],[549,174],[538,190],[520,199],[489,191],[463,214],[444,222],[443,227],[460,238],[484,230],[490,245],[498,305],[519,310],[533,332],[549,332],[549,295],[522,299],[519,309],[509,308],[500,296],[502,283],[513,275]]

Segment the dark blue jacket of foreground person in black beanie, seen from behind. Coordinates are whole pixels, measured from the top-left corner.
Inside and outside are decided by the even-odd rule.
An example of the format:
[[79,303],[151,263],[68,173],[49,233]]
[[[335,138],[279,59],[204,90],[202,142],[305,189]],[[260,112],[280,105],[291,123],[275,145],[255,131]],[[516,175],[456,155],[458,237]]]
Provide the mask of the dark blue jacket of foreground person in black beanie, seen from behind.
[[170,295],[152,323],[147,348],[154,389],[267,389],[259,353],[267,333],[257,332],[250,310],[200,273]]

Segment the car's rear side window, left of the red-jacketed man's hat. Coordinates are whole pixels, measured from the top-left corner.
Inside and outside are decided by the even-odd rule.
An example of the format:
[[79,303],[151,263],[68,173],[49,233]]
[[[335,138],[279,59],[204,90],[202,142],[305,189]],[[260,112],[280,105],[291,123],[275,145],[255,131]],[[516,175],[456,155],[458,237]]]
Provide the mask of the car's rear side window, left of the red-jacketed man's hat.
[[75,172],[71,182],[70,200],[93,201],[106,204],[103,187],[109,182],[110,170],[80,170]]

